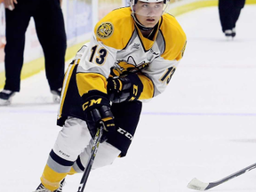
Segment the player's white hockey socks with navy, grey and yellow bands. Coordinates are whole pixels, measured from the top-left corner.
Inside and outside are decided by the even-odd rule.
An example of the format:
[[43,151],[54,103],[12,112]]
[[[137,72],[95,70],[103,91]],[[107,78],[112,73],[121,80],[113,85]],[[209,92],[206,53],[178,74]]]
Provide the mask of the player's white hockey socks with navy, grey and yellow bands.
[[[84,148],[86,146],[86,148]],[[44,167],[41,182],[52,191],[60,186],[67,174],[84,172],[91,156],[92,137],[86,123],[69,117],[60,131]],[[108,142],[100,143],[92,169],[112,164],[121,151]]]

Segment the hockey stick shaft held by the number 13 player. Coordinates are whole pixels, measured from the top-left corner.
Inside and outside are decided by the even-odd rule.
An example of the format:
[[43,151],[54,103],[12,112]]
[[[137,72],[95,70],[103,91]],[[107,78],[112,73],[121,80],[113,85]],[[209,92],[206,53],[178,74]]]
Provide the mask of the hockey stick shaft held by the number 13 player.
[[86,168],[84,170],[84,174],[83,174],[83,177],[80,181],[80,185],[79,185],[79,188],[78,188],[77,192],[83,192],[84,191],[85,184],[86,184],[86,182],[88,180],[88,177],[89,177],[89,174],[91,172],[92,164],[93,164],[94,158],[97,154],[97,151],[98,151],[98,148],[99,148],[99,145],[100,145],[100,138],[102,136],[103,129],[104,129],[104,124],[101,123],[101,122],[100,122],[100,124],[101,124],[100,128],[98,128],[98,130],[95,134],[94,140],[93,140],[90,159],[88,160],[88,163],[87,163]]

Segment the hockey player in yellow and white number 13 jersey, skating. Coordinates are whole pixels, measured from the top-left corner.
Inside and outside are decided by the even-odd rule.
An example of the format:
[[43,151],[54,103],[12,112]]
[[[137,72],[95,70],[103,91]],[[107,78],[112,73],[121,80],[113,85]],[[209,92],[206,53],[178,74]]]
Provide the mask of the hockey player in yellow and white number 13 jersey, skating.
[[77,52],[62,87],[62,126],[36,192],[60,192],[68,174],[84,172],[100,122],[103,138],[96,169],[126,156],[140,119],[141,101],[169,84],[186,46],[168,0],[131,0],[131,7],[108,13],[91,42]]

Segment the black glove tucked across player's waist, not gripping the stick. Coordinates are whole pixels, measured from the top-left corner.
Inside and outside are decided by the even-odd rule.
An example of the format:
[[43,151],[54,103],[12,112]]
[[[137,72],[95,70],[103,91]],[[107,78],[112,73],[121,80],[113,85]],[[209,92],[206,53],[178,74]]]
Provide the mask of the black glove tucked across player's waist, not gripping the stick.
[[118,78],[108,78],[108,98],[114,103],[138,100],[143,91],[139,76],[129,74]]

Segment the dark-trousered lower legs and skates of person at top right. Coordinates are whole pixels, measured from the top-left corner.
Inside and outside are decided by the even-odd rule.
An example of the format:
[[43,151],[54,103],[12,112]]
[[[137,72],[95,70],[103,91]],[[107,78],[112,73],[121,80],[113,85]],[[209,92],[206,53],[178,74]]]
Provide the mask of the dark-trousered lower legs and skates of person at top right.
[[228,39],[236,36],[236,21],[244,4],[245,0],[219,0],[220,24]]

